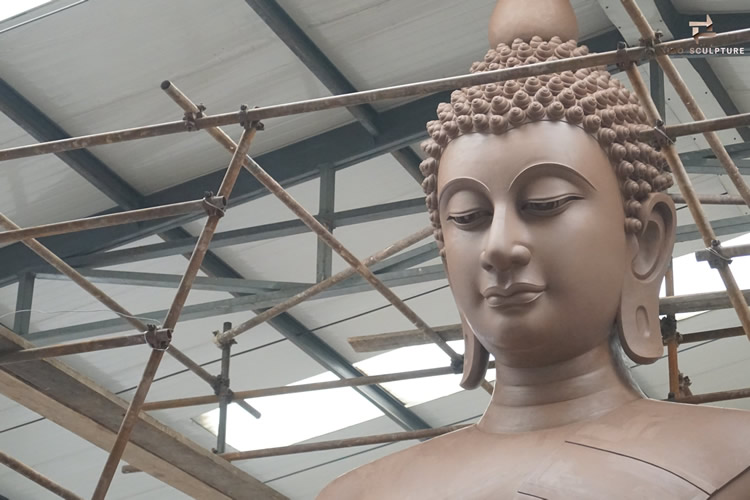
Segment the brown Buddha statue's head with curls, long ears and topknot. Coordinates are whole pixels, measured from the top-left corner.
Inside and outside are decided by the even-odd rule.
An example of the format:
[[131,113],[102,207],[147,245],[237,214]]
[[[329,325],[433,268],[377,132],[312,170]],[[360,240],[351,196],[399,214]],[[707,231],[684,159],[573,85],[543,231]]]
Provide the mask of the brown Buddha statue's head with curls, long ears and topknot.
[[[471,71],[587,54],[557,35],[576,36],[570,4],[541,3],[559,22],[501,0]],[[479,384],[490,353],[542,367],[611,335],[633,361],[658,359],[675,211],[663,155],[638,139],[638,98],[592,68],[463,88],[437,111],[421,170],[462,319],[462,385]]]

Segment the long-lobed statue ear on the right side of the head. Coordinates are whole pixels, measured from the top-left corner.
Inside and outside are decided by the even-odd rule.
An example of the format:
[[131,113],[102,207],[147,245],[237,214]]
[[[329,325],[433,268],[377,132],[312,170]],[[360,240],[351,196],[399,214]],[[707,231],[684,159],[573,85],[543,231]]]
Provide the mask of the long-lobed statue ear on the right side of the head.
[[664,193],[652,193],[641,202],[638,219],[640,232],[628,235],[633,259],[623,279],[617,327],[628,357],[647,364],[664,354],[659,290],[674,247],[674,202]]

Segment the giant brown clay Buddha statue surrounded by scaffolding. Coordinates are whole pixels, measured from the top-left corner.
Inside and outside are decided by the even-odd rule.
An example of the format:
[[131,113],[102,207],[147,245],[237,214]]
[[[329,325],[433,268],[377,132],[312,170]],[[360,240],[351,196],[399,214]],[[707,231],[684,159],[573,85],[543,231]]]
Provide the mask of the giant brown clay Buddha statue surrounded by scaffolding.
[[[558,34],[563,34],[562,39]],[[584,55],[568,0],[500,0],[486,71]],[[645,398],[621,354],[663,354],[671,176],[604,68],[453,92],[423,188],[464,331],[470,427],[379,459],[320,499],[750,499],[750,412]]]

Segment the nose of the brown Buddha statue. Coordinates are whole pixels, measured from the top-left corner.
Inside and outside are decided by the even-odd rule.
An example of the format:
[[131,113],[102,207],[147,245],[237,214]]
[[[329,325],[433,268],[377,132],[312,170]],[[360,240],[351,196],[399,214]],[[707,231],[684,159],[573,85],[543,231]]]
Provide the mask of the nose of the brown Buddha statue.
[[482,268],[502,272],[523,267],[531,260],[523,221],[512,211],[495,211],[480,255]]

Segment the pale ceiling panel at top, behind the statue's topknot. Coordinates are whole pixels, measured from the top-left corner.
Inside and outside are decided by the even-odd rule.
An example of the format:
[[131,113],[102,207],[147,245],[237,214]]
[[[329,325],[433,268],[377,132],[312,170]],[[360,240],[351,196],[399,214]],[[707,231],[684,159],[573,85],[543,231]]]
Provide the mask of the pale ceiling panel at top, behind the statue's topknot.
[[[487,51],[485,27],[495,5],[494,0],[323,0],[310,9],[301,2],[280,3],[360,90],[467,73]],[[582,37],[611,25],[595,1],[573,4]]]

